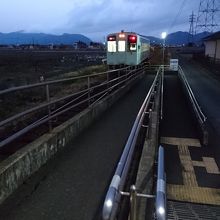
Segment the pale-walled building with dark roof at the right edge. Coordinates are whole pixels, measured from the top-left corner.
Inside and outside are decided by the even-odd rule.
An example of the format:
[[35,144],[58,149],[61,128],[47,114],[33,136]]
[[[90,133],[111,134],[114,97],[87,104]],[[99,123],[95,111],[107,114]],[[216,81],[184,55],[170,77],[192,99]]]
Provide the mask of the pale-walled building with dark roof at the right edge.
[[204,38],[205,55],[214,62],[220,62],[220,31]]

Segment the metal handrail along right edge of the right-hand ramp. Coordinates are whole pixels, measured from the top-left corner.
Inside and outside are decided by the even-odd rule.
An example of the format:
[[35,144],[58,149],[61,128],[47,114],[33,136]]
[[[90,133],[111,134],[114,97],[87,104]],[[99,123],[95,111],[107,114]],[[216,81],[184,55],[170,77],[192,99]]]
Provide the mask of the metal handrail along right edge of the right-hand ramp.
[[181,76],[181,78],[182,78],[182,80],[183,80],[183,82],[185,84],[185,87],[187,89],[188,95],[190,97],[190,101],[193,104],[193,108],[196,111],[196,114],[197,114],[197,116],[199,118],[199,121],[200,121],[201,124],[204,124],[206,122],[206,120],[207,120],[207,117],[202,112],[201,107],[199,106],[199,104],[198,104],[198,102],[197,102],[197,100],[196,100],[196,98],[195,98],[195,96],[194,96],[194,94],[192,92],[192,89],[191,89],[191,87],[190,87],[190,85],[188,83],[188,80],[186,79],[186,76],[185,76],[181,66],[179,66],[179,71],[178,72],[179,72],[179,74],[180,74],[180,76]]

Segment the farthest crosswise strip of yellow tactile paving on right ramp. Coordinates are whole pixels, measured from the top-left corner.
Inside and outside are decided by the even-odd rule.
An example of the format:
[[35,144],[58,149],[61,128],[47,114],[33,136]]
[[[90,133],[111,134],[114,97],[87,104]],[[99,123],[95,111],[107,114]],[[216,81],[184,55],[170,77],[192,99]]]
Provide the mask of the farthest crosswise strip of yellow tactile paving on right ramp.
[[193,138],[161,137],[160,142],[163,144],[170,145],[186,145],[193,147],[201,147],[199,140]]

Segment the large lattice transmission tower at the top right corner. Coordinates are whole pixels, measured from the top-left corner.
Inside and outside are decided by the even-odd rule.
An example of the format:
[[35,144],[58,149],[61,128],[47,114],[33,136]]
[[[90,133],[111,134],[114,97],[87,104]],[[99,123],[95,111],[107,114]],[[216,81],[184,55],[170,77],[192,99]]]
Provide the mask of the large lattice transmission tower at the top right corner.
[[219,26],[219,10],[219,0],[200,0],[199,11],[196,20],[196,33],[203,31],[216,31]]

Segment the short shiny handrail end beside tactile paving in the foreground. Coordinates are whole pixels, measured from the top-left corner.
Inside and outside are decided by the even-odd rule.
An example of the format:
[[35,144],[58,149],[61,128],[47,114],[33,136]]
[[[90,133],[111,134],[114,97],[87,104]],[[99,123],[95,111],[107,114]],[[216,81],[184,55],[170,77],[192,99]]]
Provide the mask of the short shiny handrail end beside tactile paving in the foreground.
[[166,175],[164,168],[164,148],[159,147],[156,188],[156,219],[166,220]]

